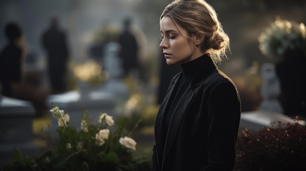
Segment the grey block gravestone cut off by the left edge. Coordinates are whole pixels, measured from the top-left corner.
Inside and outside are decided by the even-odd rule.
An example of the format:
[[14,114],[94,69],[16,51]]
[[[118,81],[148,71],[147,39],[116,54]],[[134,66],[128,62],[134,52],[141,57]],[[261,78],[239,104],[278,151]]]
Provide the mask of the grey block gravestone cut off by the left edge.
[[40,152],[34,143],[32,121],[35,109],[28,101],[0,97],[0,165],[13,161],[15,148],[23,156],[34,156]]

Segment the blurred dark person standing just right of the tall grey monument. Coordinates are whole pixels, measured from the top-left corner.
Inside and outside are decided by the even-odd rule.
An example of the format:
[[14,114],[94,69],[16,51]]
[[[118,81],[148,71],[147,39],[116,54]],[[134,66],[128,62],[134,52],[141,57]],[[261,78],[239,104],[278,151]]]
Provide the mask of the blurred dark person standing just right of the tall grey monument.
[[121,44],[119,56],[123,61],[124,76],[133,72],[138,74],[138,45],[136,38],[131,33],[131,19],[124,20],[124,31],[119,35],[118,43]]

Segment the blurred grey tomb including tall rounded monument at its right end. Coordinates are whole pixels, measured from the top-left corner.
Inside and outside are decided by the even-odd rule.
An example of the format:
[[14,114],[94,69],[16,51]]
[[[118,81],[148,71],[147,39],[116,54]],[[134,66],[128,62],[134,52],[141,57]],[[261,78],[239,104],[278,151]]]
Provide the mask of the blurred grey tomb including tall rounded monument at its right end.
[[[97,123],[100,117],[99,113],[107,113],[114,115],[115,106],[119,102],[123,102],[129,97],[129,90],[122,80],[122,69],[118,58],[119,45],[111,42],[105,45],[105,56],[102,64],[105,70],[109,73],[109,79],[96,88],[91,89],[86,81],[79,83],[79,91],[69,91],[58,95],[49,95],[47,106],[52,109],[52,103],[58,106],[61,110],[67,112],[70,116],[70,126],[74,126],[78,131],[81,129],[81,119],[83,118],[82,108],[79,101],[88,110],[88,116],[92,117],[92,123]],[[58,128],[58,120],[52,118],[50,124],[50,132],[56,134]]]

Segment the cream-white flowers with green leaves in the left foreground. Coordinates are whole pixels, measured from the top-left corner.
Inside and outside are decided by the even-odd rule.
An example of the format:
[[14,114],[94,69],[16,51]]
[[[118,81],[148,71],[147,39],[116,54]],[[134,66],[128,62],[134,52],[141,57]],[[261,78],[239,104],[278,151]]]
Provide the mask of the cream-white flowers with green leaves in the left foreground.
[[[84,110],[83,105],[81,105]],[[134,159],[132,153],[136,150],[136,142],[131,138],[132,131],[125,134],[124,124],[127,118],[122,118],[114,126],[113,117],[100,113],[97,124],[88,122],[88,112],[84,110],[81,120],[81,130],[69,126],[69,114],[53,104],[50,110],[58,119],[57,133],[59,142],[49,133],[42,130],[50,150],[33,158],[23,157],[16,149],[13,164],[5,166],[3,171],[148,171],[151,159]],[[113,132],[111,132],[111,130]]]

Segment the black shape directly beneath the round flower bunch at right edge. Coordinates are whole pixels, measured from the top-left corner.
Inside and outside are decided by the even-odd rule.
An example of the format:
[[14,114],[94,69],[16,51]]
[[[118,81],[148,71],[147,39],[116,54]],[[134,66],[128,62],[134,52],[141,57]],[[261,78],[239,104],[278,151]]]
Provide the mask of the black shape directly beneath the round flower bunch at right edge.
[[302,50],[294,50],[284,56],[284,60],[276,64],[284,114],[306,119],[306,55]]

